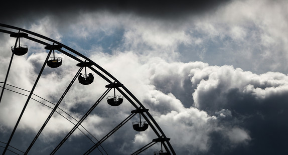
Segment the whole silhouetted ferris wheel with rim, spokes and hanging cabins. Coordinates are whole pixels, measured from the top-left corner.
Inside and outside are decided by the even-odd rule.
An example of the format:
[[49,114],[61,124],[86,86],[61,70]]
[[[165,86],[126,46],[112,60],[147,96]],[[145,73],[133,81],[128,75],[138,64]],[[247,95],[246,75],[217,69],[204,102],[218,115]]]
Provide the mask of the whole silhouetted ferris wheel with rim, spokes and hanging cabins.
[[[103,86],[97,86],[97,87],[102,87],[103,92],[101,95],[97,97],[97,100],[92,104],[91,107],[88,107],[87,111],[83,112],[84,114],[80,117],[80,119],[75,119],[72,116],[70,116],[68,113],[66,113],[64,110],[63,113],[66,113],[73,119],[75,119],[74,123],[72,123],[72,128],[70,129],[69,132],[65,133],[59,141],[57,141],[53,145],[53,149],[51,149],[50,154],[55,154],[57,151],[61,148],[61,146],[67,142],[68,138],[74,133],[74,131],[80,130],[85,136],[86,134],[90,134],[90,137],[93,137],[95,140],[90,139],[91,143],[89,145],[89,149],[86,150],[81,150],[83,154],[89,154],[91,152],[95,153],[95,151],[99,147],[102,147],[102,143],[109,139],[111,135],[116,135],[117,130],[119,130],[124,124],[126,124],[131,118],[136,118],[138,119],[137,121],[134,121],[130,123],[130,127],[137,132],[145,132],[147,131],[148,128],[153,130],[155,133],[155,138],[150,139],[150,142],[147,143],[146,145],[140,146],[140,148],[133,150],[130,152],[130,154],[140,154],[141,152],[147,150],[149,147],[153,146],[154,144],[158,143],[158,145],[161,145],[161,148],[159,148],[157,151],[154,152],[149,152],[150,154],[176,154],[171,143],[170,143],[170,138],[168,138],[164,131],[161,129],[160,125],[156,122],[156,120],[153,118],[151,113],[149,112],[149,109],[147,109],[125,86],[122,84],[120,81],[118,81],[115,77],[113,77],[109,72],[104,70],[101,66],[99,66],[97,63],[93,62],[86,56],[82,55],[81,53],[73,50],[72,48],[61,44],[60,42],[57,42],[51,38],[45,37],[43,35],[37,34],[35,32],[31,32],[22,28],[6,25],[6,24],[0,24],[0,32],[3,33],[4,35],[10,35],[10,37],[15,39],[15,44],[11,47],[11,49],[8,49],[7,51],[12,51],[11,53],[11,59],[10,63],[7,69],[7,73],[2,73],[5,74],[5,80],[2,79],[0,80],[0,87],[2,87],[2,92],[0,96],[0,105],[3,104],[4,102],[2,98],[5,96],[7,91],[12,91],[11,88],[15,88],[15,90],[19,89],[22,91],[26,92],[26,102],[23,106],[23,109],[21,113],[19,114],[19,117],[17,119],[17,122],[15,124],[15,127],[13,128],[12,131],[10,131],[10,136],[7,139],[0,139],[0,151],[2,150],[2,154],[6,154],[9,152],[9,154],[29,154],[30,150],[33,150],[33,146],[37,143],[37,139],[41,135],[42,131],[44,128],[47,126],[49,121],[53,121],[51,118],[55,114],[60,114],[61,116],[65,117],[62,115],[59,110],[61,111],[62,109],[60,108],[60,104],[62,103],[63,99],[67,97],[67,93],[69,92],[70,88],[73,86],[73,84],[78,83],[81,85],[90,85],[97,78],[101,78],[104,80],[107,84]],[[36,80],[34,81],[34,85],[31,90],[25,90],[22,89],[18,86],[11,85],[7,81],[10,78],[9,73],[11,72],[11,66],[13,66],[13,59],[14,56],[24,56],[27,53],[29,53],[28,50],[28,45],[22,45],[21,42],[23,40],[30,40],[33,43],[40,44],[43,46],[44,50],[48,51],[48,54],[46,56],[46,59],[43,60],[44,63],[42,64],[42,67],[39,71],[39,74],[37,75]],[[61,53],[62,55],[67,56],[70,59],[73,59],[76,64],[71,67],[79,68],[78,71],[75,73],[74,76],[71,77],[71,82],[66,86],[66,89],[64,92],[58,92],[59,94],[62,94],[59,99],[57,99],[56,102],[50,102],[50,114],[46,118],[44,122],[42,122],[42,126],[40,129],[38,129],[37,134],[34,135],[33,140],[30,141],[30,144],[26,150],[21,150],[18,148],[18,146],[12,146],[11,142],[15,140],[15,136],[17,136],[16,130],[19,127],[19,123],[23,119],[23,115],[25,111],[29,108],[28,104],[31,102],[31,100],[36,100],[35,96],[37,96],[34,92],[36,89],[39,79],[41,76],[43,76],[43,71],[45,68],[59,68],[63,63],[65,63],[65,60],[62,57],[58,57],[57,53]],[[58,54],[59,55],[59,54]],[[19,77],[19,80],[21,80],[21,77]],[[15,93],[19,93],[24,95],[24,93],[20,93],[15,91]],[[109,95],[110,92],[110,95]],[[81,92],[79,92],[81,93]],[[38,98],[41,98],[40,96],[37,96]],[[41,98],[41,100],[45,100],[44,98]],[[105,101],[106,100],[106,101]],[[123,118],[122,121],[118,122],[117,125],[114,126],[114,128],[110,128],[110,130],[107,130],[106,134],[102,137],[95,137],[92,135],[86,128],[87,126],[83,125],[83,121],[92,113],[94,109],[97,109],[97,105],[101,102],[106,102],[106,104],[109,105],[111,108],[117,108],[120,107],[123,104],[130,104],[131,109],[130,109],[130,114],[126,117]],[[45,104],[44,104],[45,105]],[[47,105],[46,105],[47,106]],[[0,113],[3,109],[0,108]],[[67,119],[68,120],[68,119]],[[91,124],[93,125],[93,124]],[[85,128],[86,127],[86,128]],[[81,128],[81,129],[80,129]],[[84,132],[85,130],[86,132]],[[89,136],[87,136],[89,138]],[[124,139],[125,140],[125,139]],[[102,149],[104,150],[104,154],[109,154],[109,151],[106,151],[103,147]],[[102,153],[103,154],[103,153]]]

